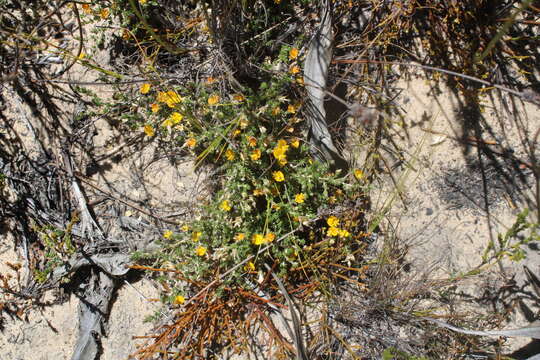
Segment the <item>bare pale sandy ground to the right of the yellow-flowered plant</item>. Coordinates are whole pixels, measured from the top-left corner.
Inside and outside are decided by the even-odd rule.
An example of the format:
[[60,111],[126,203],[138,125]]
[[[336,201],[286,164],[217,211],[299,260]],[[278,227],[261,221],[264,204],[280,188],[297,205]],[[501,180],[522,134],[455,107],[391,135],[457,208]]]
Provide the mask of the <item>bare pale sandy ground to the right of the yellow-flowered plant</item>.
[[[430,279],[447,279],[480,265],[489,241],[496,242],[497,236],[514,224],[524,208],[530,208],[529,219],[534,221],[538,211],[532,192],[534,178],[531,170],[519,163],[497,155],[480,156],[471,145],[474,142],[460,141],[474,137],[475,133],[465,130],[471,120],[451,91],[443,88],[436,95],[422,80],[403,81],[398,87],[403,89],[399,104],[403,106],[407,126],[406,130],[393,126],[393,140],[405,150],[404,158],[410,168],[402,166],[393,173],[400,183],[401,196],[395,193],[388,176],[382,179],[372,193],[374,209],[382,211],[388,199],[394,199],[386,225],[395,229],[400,241],[411,244],[404,269],[409,273],[427,272]],[[511,149],[513,155],[526,161],[518,130],[526,128],[534,134],[540,124],[538,107],[517,104],[518,111],[511,114],[504,111],[503,104],[494,104],[487,98],[483,105],[479,126],[482,139],[490,144],[488,149]],[[524,125],[518,126],[518,120]],[[522,266],[538,271],[540,252],[534,244],[523,248],[527,258],[522,262],[505,258],[500,265],[495,264],[458,286],[456,293],[461,292],[460,299],[477,300],[470,301],[464,311],[491,311],[486,300],[490,296],[499,310],[502,304],[510,307],[513,301],[526,303],[534,312],[538,310],[538,304],[524,295],[523,291],[531,288],[526,286]],[[501,291],[509,284],[513,284],[512,290]],[[519,307],[511,308],[512,320],[504,324],[505,328],[530,323],[532,319],[527,320]],[[508,351],[529,342],[526,338],[511,339]]]

